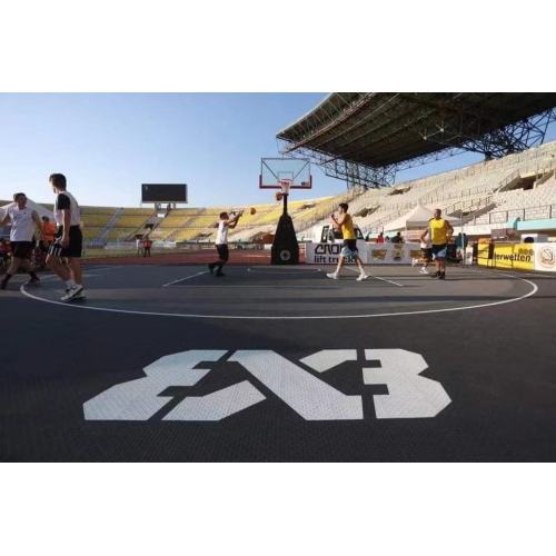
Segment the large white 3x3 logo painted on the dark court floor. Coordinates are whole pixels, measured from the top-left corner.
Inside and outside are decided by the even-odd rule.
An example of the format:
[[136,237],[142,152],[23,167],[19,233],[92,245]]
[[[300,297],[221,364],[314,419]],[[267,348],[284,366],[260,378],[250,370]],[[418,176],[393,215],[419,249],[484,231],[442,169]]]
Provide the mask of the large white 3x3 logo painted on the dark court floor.
[[[171,396],[162,395],[167,388],[195,386],[210,373],[210,361],[220,361],[227,354],[219,349],[191,349],[161,357],[145,367],[145,377],[112,386],[83,404],[85,418],[147,420],[172,400]],[[357,361],[356,349],[324,349],[299,363],[267,349],[237,350],[225,360],[241,365],[256,379],[255,384],[241,380],[205,396],[187,396],[162,420],[224,419],[267,399],[268,393],[262,393],[257,383],[306,420],[369,417],[364,415],[366,385],[386,385],[388,389],[388,394],[373,395],[378,419],[435,417],[450,404],[438,381],[420,375],[427,364],[419,354],[405,349],[365,349],[365,359],[369,367],[361,367],[361,395],[354,396],[334,388],[319,376],[341,373],[341,364]],[[370,361],[378,361],[379,366],[370,366]]]

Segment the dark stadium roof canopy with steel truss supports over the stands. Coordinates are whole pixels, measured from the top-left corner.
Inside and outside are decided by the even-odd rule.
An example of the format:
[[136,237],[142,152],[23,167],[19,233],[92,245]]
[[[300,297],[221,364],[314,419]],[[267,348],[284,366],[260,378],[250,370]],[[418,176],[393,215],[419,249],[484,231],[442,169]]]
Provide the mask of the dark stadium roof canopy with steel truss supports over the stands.
[[497,158],[539,145],[554,107],[553,92],[334,92],[277,138],[285,153],[377,186],[456,151]]

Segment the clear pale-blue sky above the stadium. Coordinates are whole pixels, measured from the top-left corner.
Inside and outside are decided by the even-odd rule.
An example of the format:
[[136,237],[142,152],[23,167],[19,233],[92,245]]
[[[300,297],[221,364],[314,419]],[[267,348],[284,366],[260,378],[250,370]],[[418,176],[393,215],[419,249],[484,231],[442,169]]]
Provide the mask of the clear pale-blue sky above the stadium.
[[[0,199],[24,191],[51,201],[48,175],[67,175],[81,205],[137,207],[141,182],[187,182],[191,206],[268,202],[261,157],[276,132],[325,93],[0,95]],[[546,140],[556,139],[556,126]],[[411,179],[480,160],[473,153],[403,172]],[[314,168],[314,190],[345,182]]]

